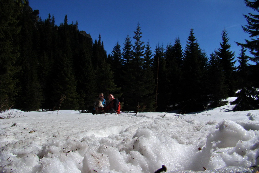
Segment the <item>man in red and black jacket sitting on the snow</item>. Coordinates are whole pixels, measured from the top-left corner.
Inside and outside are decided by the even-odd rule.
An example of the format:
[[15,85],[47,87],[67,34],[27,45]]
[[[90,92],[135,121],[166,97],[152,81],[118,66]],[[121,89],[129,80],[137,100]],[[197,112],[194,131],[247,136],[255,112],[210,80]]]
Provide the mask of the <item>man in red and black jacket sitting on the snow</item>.
[[[111,101],[106,107],[103,108],[104,112],[106,113],[117,113],[121,112],[121,103],[118,99],[115,99],[112,94],[108,96],[108,99]],[[96,110],[102,108],[96,108]]]

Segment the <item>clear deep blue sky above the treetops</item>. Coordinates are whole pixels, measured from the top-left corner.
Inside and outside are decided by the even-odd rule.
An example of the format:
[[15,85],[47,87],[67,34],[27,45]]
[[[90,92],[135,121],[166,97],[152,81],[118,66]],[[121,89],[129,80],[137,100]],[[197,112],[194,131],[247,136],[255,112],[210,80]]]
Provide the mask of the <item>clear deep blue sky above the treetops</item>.
[[[222,30],[228,34],[231,50],[238,56],[240,47],[235,42],[245,42],[248,34],[241,25],[247,25],[243,14],[254,10],[246,7],[243,0],[31,0],[33,10],[45,20],[54,15],[57,25],[78,21],[78,29],[86,31],[93,41],[99,33],[107,54],[119,42],[121,49],[127,34],[132,39],[138,23],[142,31],[142,41],[149,41],[154,52],[159,44],[164,47],[174,44],[180,38],[182,48],[194,29],[201,49],[209,56],[222,42]],[[248,51],[247,51],[248,52]]]

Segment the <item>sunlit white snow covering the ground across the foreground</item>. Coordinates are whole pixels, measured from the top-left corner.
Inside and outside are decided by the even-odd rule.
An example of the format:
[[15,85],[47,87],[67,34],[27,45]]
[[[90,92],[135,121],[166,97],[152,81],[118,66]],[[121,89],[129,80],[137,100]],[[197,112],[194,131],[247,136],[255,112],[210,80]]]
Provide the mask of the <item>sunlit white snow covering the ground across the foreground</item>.
[[120,116],[13,110],[0,120],[0,172],[255,172],[259,110],[232,107]]

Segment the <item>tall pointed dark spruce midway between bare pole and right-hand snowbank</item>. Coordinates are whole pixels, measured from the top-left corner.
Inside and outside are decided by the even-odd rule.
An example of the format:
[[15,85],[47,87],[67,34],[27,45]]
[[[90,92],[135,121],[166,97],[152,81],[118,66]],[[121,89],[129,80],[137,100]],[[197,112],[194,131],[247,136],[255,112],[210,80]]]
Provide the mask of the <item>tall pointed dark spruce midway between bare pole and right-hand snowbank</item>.
[[[186,48],[184,50],[183,59],[183,82],[184,93],[183,111],[194,111],[204,109],[204,93],[203,80],[204,76],[204,54],[199,47],[197,39],[193,33],[193,28],[190,29],[190,35],[187,39]],[[184,113],[184,112],[182,112]]]

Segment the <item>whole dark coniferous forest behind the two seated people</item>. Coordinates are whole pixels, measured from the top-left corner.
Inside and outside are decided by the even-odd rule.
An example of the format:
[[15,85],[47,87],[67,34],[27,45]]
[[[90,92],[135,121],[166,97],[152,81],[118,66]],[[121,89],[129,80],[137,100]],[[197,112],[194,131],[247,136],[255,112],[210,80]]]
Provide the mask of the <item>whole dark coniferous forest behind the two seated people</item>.
[[244,15],[250,37],[237,43],[240,52],[231,51],[224,29],[219,48],[208,56],[193,28],[185,49],[180,38],[151,48],[142,41],[140,24],[107,54],[101,34],[93,40],[78,22],[68,24],[68,16],[57,26],[53,15],[41,19],[28,0],[0,1],[1,110],[87,111],[100,92],[118,98],[122,111],[184,114],[233,96],[235,110],[259,109],[259,0],[244,5],[255,14]]

